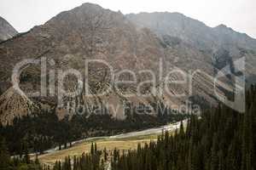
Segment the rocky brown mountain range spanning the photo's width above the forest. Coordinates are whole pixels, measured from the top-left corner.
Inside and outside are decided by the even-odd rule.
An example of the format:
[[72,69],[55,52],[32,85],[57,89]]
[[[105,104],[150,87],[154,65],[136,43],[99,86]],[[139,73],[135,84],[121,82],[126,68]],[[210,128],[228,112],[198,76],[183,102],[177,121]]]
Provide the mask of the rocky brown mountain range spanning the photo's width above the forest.
[[[38,59],[38,63],[47,63],[47,71],[42,74],[38,64],[26,65],[20,71],[20,88],[25,94],[40,92],[40,80],[49,80],[50,71],[54,71],[55,78],[45,82],[48,95],[22,98],[23,103],[29,103],[28,108],[55,108],[63,103],[63,107],[55,108],[56,114],[63,118],[72,110],[67,105],[75,100],[76,105],[85,105],[94,109],[94,105],[120,105],[117,112],[108,111],[113,116],[123,118],[125,112],[124,101],[133,105],[150,105],[156,101],[165,102],[172,109],[179,109],[186,99],[200,96],[212,105],[218,103],[214,94],[214,74],[227,63],[232,64],[235,59],[245,56],[247,59],[247,76],[255,73],[255,40],[245,34],[232,31],[225,26],[210,28],[198,20],[190,19],[183,14],[153,13],[153,14],[121,14],[92,3],[83,5],[57,14],[42,26],[35,26],[31,31],[19,34],[8,41],[0,43],[0,92],[3,96],[16,94],[11,88],[11,75],[17,63],[23,59]],[[41,60],[40,60],[41,59]],[[116,89],[110,94],[99,96],[86,96],[82,94],[70,99],[63,96],[60,90],[58,73],[75,69],[84,79],[88,79],[90,92],[102,92],[109,88],[111,77],[108,65],[93,63],[89,65],[88,74],[84,71],[86,59],[104,59],[113,67],[114,72],[122,70],[135,71],[137,83],[130,86],[120,86],[122,94]],[[193,77],[193,93],[190,93],[188,84],[174,84],[170,86],[170,93],[154,95],[150,88],[160,89],[163,80],[160,79],[160,60],[163,65],[163,76],[172,69],[179,68],[184,72],[201,70]],[[153,71],[157,81],[143,84],[143,93],[147,97],[135,94],[137,85],[145,80],[152,80],[149,72]],[[122,75],[125,80],[132,80],[129,72]],[[183,80],[180,72],[174,72],[169,81]],[[73,92],[77,85],[76,77],[66,77],[64,88]],[[50,84],[50,85],[49,85]],[[62,85],[62,84],[61,84]],[[218,82],[224,89],[232,89],[229,84]],[[54,88],[53,88],[54,87]],[[42,90],[42,89],[41,89]],[[11,92],[10,92],[11,91]],[[54,93],[49,95],[49,91]],[[124,93],[135,94],[125,97]],[[152,95],[151,95],[152,94]],[[175,95],[185,94],[183,98]],[[0,105],[2,114],[7,110],[14,111],[9,103],[9,97],[3,97]],[[18,101],[20,97],[15,95]],[[200,98],[199,98],[200,99]],[[37,106],[32,106],[37,105]],[[155,112],[155,111],[154,111]],[[118,113],[118,115],[116,115]],[[15,112],[10,113],[15,114]],[[20,112],[20,116],[26,113]],[[6,116],[1,116],[6,117]],[[9,116],[13,117],[13,116]],[[1,120],[3,121],[3,120]],[[12,121],[4,120],[4,122]]]

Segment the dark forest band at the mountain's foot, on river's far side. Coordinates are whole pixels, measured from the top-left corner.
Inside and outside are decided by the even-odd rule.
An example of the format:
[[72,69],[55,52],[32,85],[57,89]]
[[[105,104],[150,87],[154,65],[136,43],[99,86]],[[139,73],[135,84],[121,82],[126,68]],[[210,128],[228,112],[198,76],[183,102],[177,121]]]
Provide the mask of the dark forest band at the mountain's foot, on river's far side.
[[[117,120],[105,115],[74,115],[59,120],[55,110],[41,111],[30,116],[15,117],[14,123],[7,126],[0,124],[0,137],[6,140],[11,155],[24,155],[26,149],[44,153],[55,146],[66,149],[74,140],[94,136],[110,136],[166,125],[167,122],[181,121],[185,115],[131,114],[126,111],[125,120]],[[15,134],[15,135],[14,135]]]

